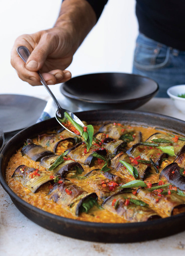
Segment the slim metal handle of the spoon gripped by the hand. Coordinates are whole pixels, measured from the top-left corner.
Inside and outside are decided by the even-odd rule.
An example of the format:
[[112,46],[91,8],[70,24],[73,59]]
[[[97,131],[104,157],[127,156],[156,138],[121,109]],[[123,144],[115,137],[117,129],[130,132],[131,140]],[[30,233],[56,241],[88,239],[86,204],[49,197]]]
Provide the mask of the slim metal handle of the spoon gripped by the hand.
[[[26,61],[28,60],[28,58],[30,56],[29,50],[25,46],[19,46],[19,47],[17,47],[17,53],[21,57],[21,59],[24,60],[24,62],[26,63]],[[54,94],[52,93],[52,91],[49,89],[49,87],[48,87],[47,83],[45,82],[45,80],[43,79],[41,73],[39,71],[37,71],[37,73],[40,76],[41,83],[46,88],[46,90],[49,92],[49,94],[51,95],[52,99],[54,100],[55,105],[57,107],[57,110],[61,109],[61,106],[59,105],[59,103],[56,100],[56,98],[55,98]]]

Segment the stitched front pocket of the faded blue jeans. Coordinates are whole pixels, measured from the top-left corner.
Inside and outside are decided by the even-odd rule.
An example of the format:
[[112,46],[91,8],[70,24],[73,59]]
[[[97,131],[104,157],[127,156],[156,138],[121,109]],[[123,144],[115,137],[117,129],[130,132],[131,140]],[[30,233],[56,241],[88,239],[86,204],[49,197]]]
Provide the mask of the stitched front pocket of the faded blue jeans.
[[[147,42],[148,40],[148,42]],[[152,39],[137,41],[134,52],[134,67],[140,70],[154,70],[168,65],[170,47],[164,47]]]

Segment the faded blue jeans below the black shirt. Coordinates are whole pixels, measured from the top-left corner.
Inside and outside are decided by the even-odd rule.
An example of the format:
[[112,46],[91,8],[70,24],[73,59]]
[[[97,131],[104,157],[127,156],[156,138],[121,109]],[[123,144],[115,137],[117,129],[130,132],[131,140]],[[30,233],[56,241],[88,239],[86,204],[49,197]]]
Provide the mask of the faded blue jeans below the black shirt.
[[156,97],[168,97],[169,87],[185,84],[185,51],[160,44],[139,34],[134,52],[133,73],[155,80]]

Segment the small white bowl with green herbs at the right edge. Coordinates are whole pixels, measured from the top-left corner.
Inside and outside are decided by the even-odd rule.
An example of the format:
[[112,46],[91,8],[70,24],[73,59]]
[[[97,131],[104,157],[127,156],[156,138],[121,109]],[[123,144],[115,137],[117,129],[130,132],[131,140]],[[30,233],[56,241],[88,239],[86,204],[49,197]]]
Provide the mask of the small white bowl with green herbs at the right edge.
[[174,101],[177,109],[185,113],[185,98],[178,97],[178,95],[185,93],[185,84],[175,85],[167,90],[168,96]]

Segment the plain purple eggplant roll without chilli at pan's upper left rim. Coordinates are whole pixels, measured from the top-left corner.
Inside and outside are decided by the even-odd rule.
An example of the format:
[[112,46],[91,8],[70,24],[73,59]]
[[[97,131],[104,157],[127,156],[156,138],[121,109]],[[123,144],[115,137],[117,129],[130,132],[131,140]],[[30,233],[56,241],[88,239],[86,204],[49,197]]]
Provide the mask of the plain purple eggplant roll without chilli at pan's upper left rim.
[[26,155],[31,158],[33,161],[40,161],[40,159],[44,156],[53,155],[53,152],[46,150],[41,145],[36,145],[30,143],[22,148],[21,150],[22,156]]

